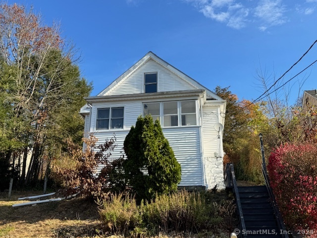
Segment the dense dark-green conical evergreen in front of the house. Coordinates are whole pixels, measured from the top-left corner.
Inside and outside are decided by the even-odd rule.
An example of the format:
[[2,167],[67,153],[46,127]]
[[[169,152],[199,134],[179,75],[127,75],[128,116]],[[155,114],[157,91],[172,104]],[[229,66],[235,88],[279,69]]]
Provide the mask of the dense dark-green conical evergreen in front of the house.
[[164,138],[159,120],[154,123],[151,115],[140,116],[124,140],[124,152],[126,179],[139,201],[177,189],[181,167]]

